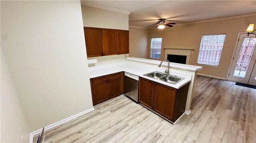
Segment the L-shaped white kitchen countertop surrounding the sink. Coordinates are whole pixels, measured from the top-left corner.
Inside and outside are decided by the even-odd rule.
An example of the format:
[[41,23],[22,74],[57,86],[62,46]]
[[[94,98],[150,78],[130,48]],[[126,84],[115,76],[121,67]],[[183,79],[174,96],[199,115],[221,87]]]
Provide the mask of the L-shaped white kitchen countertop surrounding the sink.
[[158,71],[158,72],[164,72],[165,69],[158,68],[158,67],[151,67],[148,65],[142,65],[142,64],[137,64],[137,63],[132,63],[132,62],[120,62],[120,63],[114,63],[114,64],[108,64],[108,65],[100,65],[96,67],[89,67],[89,74],[90,78],[98,77],[98,76],[104,76],[107,74],[112,74],[116,72],[129,72],[130,74],[134,74],[136,76],[140,76],[142,78],[146,78],[149,80],[152,80],[154,82],[158,82],[161,84],[164,84],[166,86],[170,86],[173,88],[180,88],[187,84],[188,82],[191,81],[192,79],[192,74],[186,74],[183,72],[176,72],[176,71],[171,71],[170,69],[170,74],[184,77],[185,79],[176,83],[176,84],[170,84],[161,80],[157,80],[154,78],[150,78],[148,76],[144,76],[143,74],[153,72],[153,71]]

